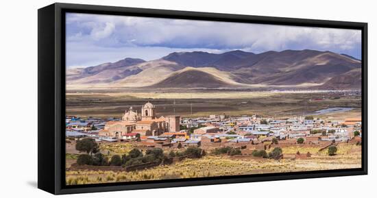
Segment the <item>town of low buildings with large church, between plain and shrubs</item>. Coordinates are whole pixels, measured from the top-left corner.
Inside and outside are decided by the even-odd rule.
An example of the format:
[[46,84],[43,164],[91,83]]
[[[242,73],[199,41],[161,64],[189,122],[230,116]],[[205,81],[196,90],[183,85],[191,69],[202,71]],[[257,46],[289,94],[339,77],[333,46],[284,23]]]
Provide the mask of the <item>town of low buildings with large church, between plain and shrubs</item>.
[[[181,130],[182,127],[182,130]],[[147,147],[184,147],[210,145],[212,143],[265,145],[273,139],[279,144],[295,144],[304,138],[306,144],[324,141],[348,142],[354,132],[360,132],[361,119],[325,121],[305,117],[289,119],[260,118],[258,116],[184,118],[180,116],[156,116],[156,107],[145,103],[141,112],[132,107],[125,110],[121,119],[82,120],[66,117],[66,136],[80,138],[91,136],[98,141],[135,141]]]

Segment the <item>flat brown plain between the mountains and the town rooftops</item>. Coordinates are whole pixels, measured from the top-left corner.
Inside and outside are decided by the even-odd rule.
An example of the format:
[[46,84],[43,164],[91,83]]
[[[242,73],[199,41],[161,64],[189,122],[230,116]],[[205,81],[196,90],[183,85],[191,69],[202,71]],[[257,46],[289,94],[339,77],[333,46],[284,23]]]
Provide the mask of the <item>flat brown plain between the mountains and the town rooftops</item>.
[[147,101],[156,105],[158,116],[287,116],[332,107],[355,108],[357,113],[361,108],[359,96],[340,92],[71,92],[66,95],[66,112],[82,117],[120,117],[130,106],[140,111]]

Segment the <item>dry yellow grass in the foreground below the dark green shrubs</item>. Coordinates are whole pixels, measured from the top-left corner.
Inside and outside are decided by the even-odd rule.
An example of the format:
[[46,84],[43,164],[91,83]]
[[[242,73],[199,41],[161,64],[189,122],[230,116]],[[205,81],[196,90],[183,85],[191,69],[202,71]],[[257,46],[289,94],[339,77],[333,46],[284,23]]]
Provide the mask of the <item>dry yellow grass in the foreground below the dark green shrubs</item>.
[[328,156],[319,147],[284,147],[283,153],[311,152],[311,158],[271,160],[262,158],[233,158],[230,156],[204,156],[186,159],[171,165],[157,166],[143,171],[66,171],[66,184],[95,184],[103,182],[129,182],[166,180],[192,177],[216,177],[226,175],[252,175],[295,171],[352,169],[361,167],[361,147],[342,144],[336,156]]

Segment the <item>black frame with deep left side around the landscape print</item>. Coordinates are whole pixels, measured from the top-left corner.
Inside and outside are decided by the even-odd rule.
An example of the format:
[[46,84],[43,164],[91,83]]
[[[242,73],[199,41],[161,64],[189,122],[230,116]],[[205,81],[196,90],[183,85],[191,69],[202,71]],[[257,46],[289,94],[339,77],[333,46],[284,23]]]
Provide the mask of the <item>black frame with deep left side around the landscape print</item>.
[[[207,21],[296,25],[306,27],[334,27],[362,31],[362,168],[293,173],[267,173],[225,177],[158,180],[148,182],[120,182],[110,184],[65,185],[65,13],[112,14],[184,18]],[[314,177],[336,177],[367,174],[367,23],[324,21],[302,18],[248,16],[144,8],[122,8],[102,5],[54,3],[38,10],[38,188],[53,194],[92,193],[112,190],[167,188],[293,180]]]

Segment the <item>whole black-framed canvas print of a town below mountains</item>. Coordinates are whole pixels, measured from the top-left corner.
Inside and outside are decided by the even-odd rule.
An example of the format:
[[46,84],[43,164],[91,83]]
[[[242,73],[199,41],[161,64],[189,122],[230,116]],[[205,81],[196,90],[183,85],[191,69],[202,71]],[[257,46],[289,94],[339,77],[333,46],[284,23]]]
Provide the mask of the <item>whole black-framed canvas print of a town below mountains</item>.
[[38,10],[38,188],[367,174],[367,23]]

